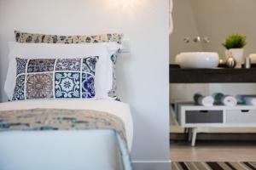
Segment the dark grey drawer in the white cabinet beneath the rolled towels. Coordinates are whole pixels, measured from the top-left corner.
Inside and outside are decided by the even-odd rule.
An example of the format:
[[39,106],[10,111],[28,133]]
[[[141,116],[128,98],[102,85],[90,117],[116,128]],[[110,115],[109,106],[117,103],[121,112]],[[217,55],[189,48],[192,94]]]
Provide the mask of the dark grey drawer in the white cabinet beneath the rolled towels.
[[186,123],[223,123],[223,111],[185,111]]

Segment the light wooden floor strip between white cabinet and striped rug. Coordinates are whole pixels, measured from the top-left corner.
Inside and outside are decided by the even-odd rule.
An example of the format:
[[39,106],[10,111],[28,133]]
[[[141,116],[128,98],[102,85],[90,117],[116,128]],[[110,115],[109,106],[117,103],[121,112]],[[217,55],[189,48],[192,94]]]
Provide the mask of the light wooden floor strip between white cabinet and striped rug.
[[171,142],[172,161],[256,161],[256,142]]

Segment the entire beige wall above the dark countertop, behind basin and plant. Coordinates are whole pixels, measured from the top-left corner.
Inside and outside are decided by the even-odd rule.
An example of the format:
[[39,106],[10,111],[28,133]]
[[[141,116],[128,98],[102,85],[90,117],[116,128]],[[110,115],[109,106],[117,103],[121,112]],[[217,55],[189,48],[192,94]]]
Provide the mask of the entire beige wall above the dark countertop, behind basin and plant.
[[[216,51],[224,57],[225,37],[231,33],[247,36],[245,56],[256,53],[255,0],[174,0],[174,31],[170,39],[170,61],[180,51]],[[182,43],[183,37],[209,37],[210,43]]]

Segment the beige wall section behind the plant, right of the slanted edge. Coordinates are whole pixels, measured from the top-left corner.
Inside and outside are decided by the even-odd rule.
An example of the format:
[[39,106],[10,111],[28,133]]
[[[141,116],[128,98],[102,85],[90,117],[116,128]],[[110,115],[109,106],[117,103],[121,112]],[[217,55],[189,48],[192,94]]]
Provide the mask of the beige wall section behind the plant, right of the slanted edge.
[[256,1],[255,0],[189,0],[192,5],[197,28],[202,37],[210,37],[204,44],[205,51],[217,51],[224,56],[221,45],[231,33],[247,36],[245,56],[256,53]]

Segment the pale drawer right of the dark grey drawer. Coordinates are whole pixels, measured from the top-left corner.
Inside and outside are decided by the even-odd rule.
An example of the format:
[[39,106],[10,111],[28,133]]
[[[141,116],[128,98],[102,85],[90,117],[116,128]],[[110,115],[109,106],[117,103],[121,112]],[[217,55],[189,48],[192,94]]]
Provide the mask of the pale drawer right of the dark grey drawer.
[[256,124],[256,110],[227,110],[226,122]]

